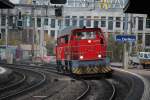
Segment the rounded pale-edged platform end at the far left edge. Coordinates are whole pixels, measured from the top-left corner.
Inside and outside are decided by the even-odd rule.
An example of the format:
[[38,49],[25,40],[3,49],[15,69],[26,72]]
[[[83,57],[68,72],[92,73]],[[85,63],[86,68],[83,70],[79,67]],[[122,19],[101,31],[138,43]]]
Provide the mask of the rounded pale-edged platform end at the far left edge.
[[13,71],[8,68],[0,67],[0,84],[9,82],[13,78]]

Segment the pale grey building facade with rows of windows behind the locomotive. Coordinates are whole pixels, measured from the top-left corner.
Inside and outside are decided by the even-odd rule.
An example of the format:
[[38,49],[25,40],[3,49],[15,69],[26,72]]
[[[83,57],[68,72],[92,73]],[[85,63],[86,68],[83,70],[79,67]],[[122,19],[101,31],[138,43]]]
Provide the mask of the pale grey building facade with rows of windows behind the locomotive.
[[[150,48],[150,20],[147,15],[128,14],[128,30],[124,33],[126,0],[68,0],[65,5],[53,5],[49,0],[20,0],[12,10],[0,11],[1,39],[42,43],[56,39],[61,29],[70,26],[100,27],[106,36],[135,34],[137,44]],[[62,16],[55,9],[62,8]],[[21,14],[19,14],[21,12]],[[18,24],[17,24],[18,23]],[[10,43],[12,43],[10,41]]]

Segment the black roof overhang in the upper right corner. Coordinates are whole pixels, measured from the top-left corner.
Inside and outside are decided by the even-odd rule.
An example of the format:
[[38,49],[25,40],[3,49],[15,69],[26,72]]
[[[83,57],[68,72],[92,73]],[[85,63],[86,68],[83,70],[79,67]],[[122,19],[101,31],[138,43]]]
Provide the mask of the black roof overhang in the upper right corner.
[[149,0],[129,0],[123,10],[125,13],[150,14]]

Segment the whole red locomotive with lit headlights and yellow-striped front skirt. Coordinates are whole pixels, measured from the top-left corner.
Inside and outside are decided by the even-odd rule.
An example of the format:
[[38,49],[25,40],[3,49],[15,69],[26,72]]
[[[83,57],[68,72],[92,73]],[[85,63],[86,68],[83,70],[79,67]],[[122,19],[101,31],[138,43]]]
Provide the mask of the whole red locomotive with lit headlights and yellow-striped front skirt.
[[56,62],[58,71],[70,73],[108,73],[107,43],[100,28],[68,28],[57,38]]

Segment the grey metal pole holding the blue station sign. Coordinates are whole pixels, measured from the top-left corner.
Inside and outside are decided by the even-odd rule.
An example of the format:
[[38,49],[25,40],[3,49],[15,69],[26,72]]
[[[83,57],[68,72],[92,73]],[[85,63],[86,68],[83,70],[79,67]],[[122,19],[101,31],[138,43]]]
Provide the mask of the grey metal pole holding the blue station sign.
[[[128,32],[128,14],[126,13],[125,14],[125,28],[124,28],[124,34],[127,34]],[[127,62],[127,44],[124,43],[124,48],[123,48],[123,56],[124,56],[124,59],[123,59],[123,67],[124,69],[128,69],[128,62]]]

